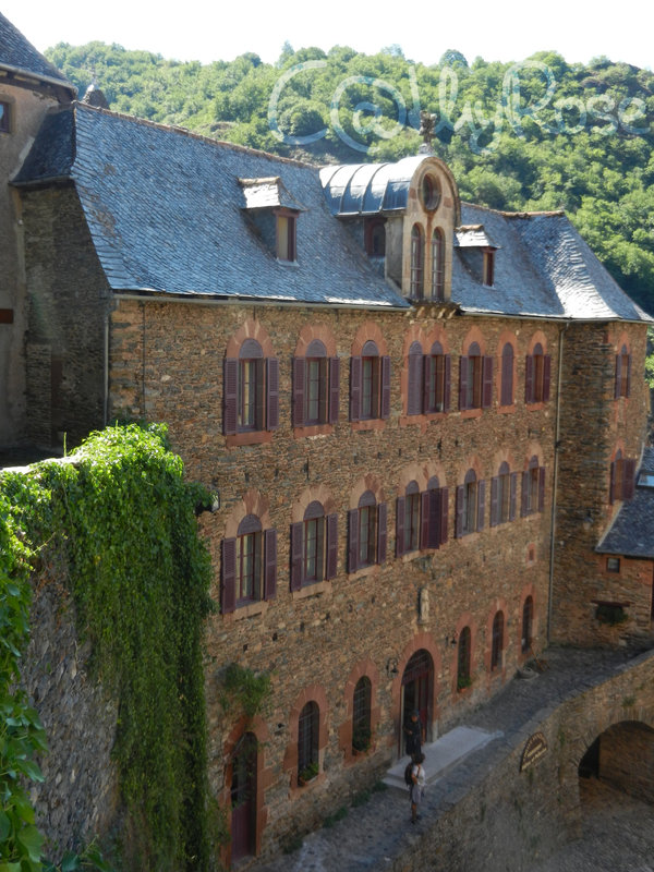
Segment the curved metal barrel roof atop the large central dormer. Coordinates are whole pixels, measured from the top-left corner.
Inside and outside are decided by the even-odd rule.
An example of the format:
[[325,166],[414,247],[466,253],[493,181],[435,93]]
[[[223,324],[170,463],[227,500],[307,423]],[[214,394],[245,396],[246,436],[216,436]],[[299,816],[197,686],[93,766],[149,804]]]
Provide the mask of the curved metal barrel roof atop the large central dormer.
[[340,167],[324,167],[320,182],[332,215],[376,215],[405,209],[409,189],[416,172],[425,162],[436,164],[447,177],[457,203],[457,183],[449,168],[432,155],[404,157],[396,164],[346,164]]

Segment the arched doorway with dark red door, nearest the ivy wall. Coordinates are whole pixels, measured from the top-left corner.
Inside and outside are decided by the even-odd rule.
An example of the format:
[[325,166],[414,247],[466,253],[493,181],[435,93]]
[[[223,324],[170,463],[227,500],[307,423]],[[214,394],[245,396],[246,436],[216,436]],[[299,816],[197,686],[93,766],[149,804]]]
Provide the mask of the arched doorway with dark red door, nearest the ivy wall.
[[232,756],[231,859],[232,862],[256,851],[256,766],[257,741],[246,732]]

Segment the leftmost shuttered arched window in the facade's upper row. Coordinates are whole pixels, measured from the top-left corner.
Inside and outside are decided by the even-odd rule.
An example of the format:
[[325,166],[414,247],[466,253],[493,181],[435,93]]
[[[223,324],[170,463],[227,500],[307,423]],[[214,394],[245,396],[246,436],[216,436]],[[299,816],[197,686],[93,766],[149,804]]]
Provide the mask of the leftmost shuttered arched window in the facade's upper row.
[[226,358],[223,382],[225,435],[277,429],[279,363],[264,358],[255,339],[246,339],[238,358]]

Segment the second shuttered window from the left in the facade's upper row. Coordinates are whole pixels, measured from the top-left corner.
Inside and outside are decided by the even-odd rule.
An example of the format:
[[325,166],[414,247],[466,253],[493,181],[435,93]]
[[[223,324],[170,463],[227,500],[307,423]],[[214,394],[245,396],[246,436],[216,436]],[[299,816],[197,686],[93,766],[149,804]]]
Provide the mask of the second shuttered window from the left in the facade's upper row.
[[293,426],[336,424],[339,412],[340,361],[328,358],[314,339],[303,358],[293,358]]

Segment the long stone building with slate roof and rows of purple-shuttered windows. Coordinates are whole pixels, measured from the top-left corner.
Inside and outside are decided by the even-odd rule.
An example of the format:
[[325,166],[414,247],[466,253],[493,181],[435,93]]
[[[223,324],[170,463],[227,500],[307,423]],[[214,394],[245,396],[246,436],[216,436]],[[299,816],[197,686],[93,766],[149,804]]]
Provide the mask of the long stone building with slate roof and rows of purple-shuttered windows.
[[[370,784],[410,711],[433,740],[550,639],[652,641],[652,552],[614,572],[596,547],[640,494],[651,319],[564,214],[461,203],[428,154],[318,169],[83,102],[41,116],[3,194],[25,434],[165,421],[214,494],[232,860]],[[252,722],[220,705],[232,663],[272,677]]]

